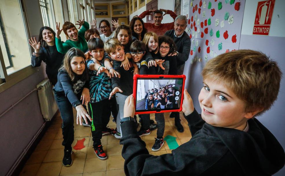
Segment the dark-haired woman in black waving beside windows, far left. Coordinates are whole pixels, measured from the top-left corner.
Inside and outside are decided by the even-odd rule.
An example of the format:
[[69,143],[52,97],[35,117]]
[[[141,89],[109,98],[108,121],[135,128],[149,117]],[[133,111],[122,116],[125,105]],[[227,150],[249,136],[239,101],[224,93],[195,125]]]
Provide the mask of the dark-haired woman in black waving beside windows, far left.
[[39,67],[42,61],[45,62],[45,72],[53,86],[57,82],[58,70],[62,65],[64,56],[64,54],[57,51],[54,37],[55,32],[52,28],[44,26],[40,29],[39,42],[36,42],[35,37],[29,39],[29,44],[34,48],[31,60],[32,66]]

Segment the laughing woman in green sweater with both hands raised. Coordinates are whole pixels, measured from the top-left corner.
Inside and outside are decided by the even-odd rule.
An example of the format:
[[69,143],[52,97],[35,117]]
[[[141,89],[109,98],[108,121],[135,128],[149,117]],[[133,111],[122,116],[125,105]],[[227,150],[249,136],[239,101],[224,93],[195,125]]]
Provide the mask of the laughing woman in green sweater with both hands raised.
[[[55,44],[56,49],[58,52],[65,54],[70,48],[75,47],[80,49],[83,52],[86,52],[88,50],[87,42],[85,41],[84,34],[87,29],[89,29],[89,24],[86,21],[77,21],[76,25],[79,25],[81,29],[77,31],[75,25],[69,21],[66,21],[62,29],[59,28],[60,23],[56,23],[56,38],[55,38]],[[60,34],[63,30],[64,34],[66,35],[67,40],[62,43]]]

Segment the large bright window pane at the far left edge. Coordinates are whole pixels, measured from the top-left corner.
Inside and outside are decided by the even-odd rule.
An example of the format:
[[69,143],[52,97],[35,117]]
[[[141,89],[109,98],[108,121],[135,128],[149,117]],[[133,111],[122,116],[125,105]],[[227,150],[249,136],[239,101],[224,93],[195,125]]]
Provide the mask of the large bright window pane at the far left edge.
[[31,65],[28,37],[18,0],[2,1],[0,14],[0,45],[7,74],[11,74]]

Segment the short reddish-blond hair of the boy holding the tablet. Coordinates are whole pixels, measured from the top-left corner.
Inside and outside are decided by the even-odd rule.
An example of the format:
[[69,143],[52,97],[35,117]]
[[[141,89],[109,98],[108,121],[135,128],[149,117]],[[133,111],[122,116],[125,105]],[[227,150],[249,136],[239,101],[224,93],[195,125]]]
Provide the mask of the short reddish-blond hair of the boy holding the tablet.
[[262,52],[240,49],[209,60],[202,70],[204,80],[218,81],[245,102],[245,110],[270,109],[277,99],[282,72]]

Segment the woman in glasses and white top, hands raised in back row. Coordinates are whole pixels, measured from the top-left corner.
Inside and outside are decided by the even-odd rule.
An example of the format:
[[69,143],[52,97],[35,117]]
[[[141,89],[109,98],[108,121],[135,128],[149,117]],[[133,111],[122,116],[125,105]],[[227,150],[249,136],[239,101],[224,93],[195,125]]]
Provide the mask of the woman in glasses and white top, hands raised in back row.
[[[115,20],[112,20],[113,27],[118,28],[119,23]],[[99,23],[99,29],[103,34],[100,35],[101,40],[105,43],[108,39],[111,39],[115,35],[115,31],[111,32],[111,25],[108,20],[101,20]]]

